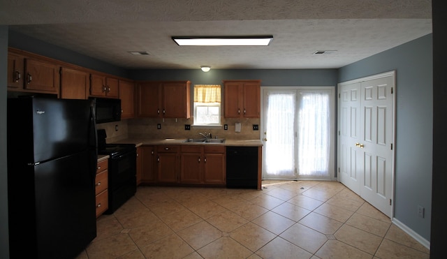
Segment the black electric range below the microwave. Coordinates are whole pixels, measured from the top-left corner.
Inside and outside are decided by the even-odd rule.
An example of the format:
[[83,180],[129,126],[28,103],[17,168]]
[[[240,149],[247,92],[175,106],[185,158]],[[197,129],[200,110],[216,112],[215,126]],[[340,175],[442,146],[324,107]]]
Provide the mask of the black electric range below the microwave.
[[105,130],[98,130],[98,154],[109,155],[108,159],[108,210],[112,214],[124,202],[135,195],[136,147],[135,144],[106,144]]

